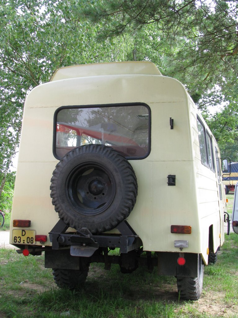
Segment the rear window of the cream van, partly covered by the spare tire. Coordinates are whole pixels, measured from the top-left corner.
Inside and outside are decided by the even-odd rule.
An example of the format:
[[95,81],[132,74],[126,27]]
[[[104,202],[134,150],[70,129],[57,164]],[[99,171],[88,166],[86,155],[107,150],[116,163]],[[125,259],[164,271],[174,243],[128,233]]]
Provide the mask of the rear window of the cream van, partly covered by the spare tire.
[[55,114],[54,155],[100,144],[126,158],[142,159],[150,151],[150,109],[145,104],[61,107]]

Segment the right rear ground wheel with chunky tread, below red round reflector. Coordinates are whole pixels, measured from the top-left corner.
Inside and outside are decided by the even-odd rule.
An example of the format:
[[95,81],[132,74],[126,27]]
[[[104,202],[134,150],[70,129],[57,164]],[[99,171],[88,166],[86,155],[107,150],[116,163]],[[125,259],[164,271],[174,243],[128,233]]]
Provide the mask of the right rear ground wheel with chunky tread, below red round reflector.
[[198,300],[202,293],[203,285],[203,264],[202,257],[198,255],[198,276],[177,277],[177,287],[180,298],[186,300]]

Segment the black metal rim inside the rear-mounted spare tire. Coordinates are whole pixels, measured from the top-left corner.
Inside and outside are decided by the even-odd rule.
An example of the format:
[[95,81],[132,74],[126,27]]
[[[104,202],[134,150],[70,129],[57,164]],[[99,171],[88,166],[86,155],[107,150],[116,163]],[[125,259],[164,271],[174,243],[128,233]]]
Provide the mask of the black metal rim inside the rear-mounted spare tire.
[[68,175],[66,197],[71,206],[83,215],[96,215],[112,203],[116,182],[107,167],[96,162],[82,163]]

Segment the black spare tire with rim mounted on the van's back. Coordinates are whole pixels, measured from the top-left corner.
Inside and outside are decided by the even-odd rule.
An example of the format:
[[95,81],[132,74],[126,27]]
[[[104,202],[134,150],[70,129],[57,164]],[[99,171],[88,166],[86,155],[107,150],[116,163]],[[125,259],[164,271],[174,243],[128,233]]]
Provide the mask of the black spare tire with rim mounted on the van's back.
[[119,152],[91,144],[60,160],[50,190],[55,211],[69,227],[100,233],[128,217],[136,203],[137,180]]

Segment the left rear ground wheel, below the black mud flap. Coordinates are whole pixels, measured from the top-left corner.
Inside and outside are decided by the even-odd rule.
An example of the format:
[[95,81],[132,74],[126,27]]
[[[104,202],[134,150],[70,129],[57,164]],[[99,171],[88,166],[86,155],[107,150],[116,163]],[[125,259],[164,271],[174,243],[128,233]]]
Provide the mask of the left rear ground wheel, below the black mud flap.
[[53,276],[58,287],[64,289],[81,289],[88,276],[88,270],[53,268]]

